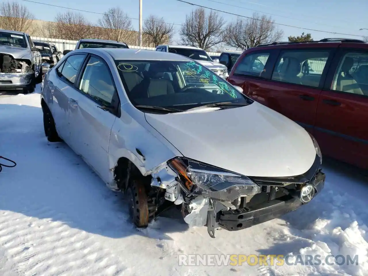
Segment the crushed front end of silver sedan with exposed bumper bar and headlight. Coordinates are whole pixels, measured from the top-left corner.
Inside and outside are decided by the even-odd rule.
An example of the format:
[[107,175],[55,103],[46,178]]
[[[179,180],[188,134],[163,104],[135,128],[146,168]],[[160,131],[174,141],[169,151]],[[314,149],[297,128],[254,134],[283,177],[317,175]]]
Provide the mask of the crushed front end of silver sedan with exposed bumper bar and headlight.
[[167,164],[171,170],[166,166],[153,175],[152,185],[166,183],[165,199],[182,204],[185,222],[207,225],[213,238],[216,229],[241,230],[296,210],[319,194],[325,183],[319,155],[307,172],[293,177],[243,176],[187,158]]

